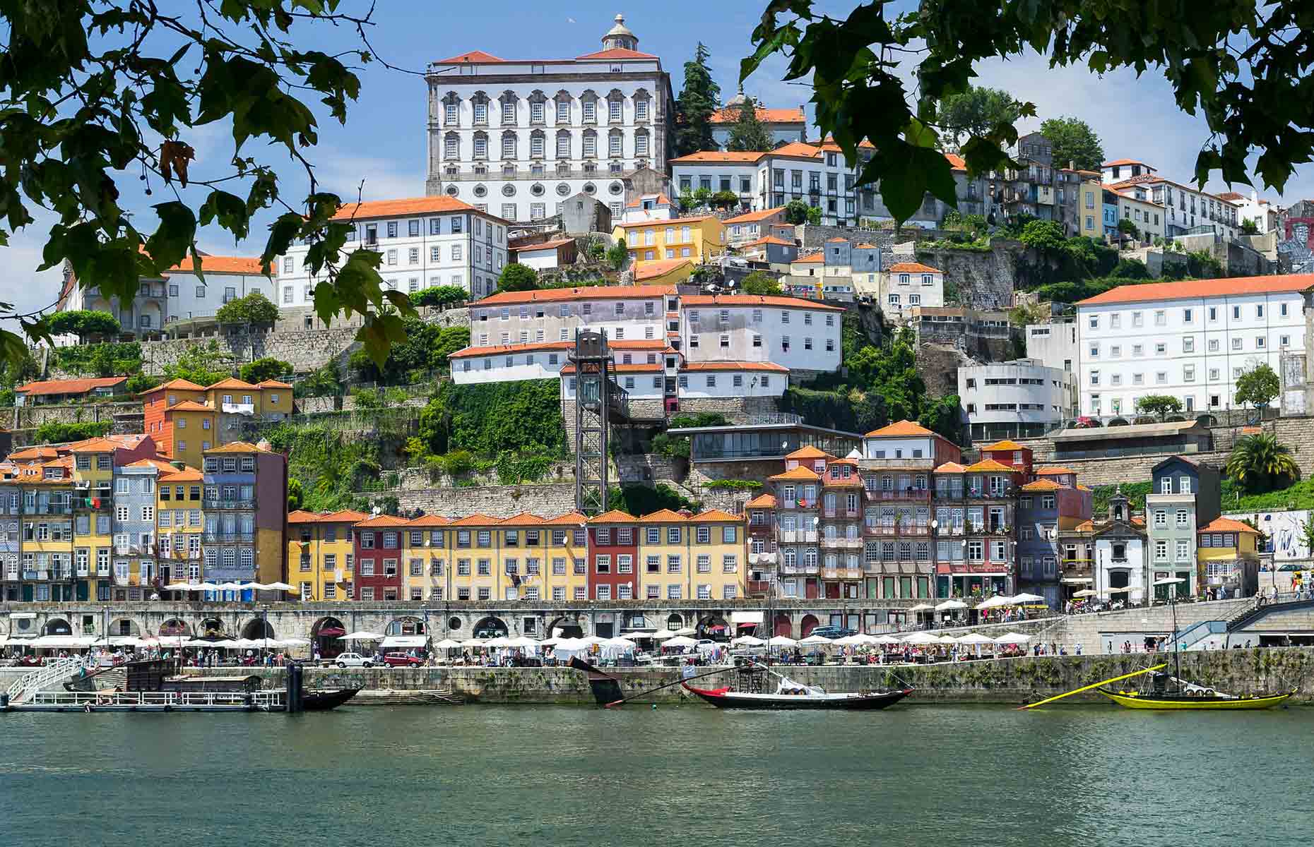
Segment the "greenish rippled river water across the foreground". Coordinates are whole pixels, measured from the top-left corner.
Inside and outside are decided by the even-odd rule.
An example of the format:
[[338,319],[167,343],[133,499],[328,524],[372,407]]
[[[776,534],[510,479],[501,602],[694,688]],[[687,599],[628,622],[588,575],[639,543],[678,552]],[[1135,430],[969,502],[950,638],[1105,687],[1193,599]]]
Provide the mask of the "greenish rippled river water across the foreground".
[[1314,710],[0,714],[0,844],[1309,844]]

